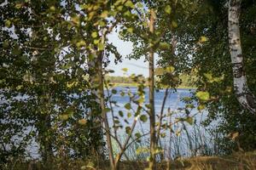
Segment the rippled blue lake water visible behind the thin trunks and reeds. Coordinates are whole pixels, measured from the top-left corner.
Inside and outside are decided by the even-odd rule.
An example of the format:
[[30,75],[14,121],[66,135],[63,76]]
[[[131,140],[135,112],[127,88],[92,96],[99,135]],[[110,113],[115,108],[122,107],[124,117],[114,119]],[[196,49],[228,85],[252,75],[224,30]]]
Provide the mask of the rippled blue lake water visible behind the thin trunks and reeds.
[[[131,113],[131,116],[128,117],[128,110],[125,109],[125,104],[128,103],[129,96],[128,92],[131,94],[137,93],[137,88],[125,88],[118,87],[115,88],[117,90],[117,94],[113,94],[111,100],[116,101],[116,105],[113,105],[113,116],[119,116],[119,111],[123,111],[124,116],[119,116],[119,122],[123,125],[123,128],[118,129],[117,137],[119,140],[124,141],[126,138],[125,127],[131,126],[132,122],[134,122],[134,116]],[[125,92],[124,96],[120,95],[120,92]],[[145,88],[145,103],[148,103],[148,88]],[[201,126],[201,122],[207,116],[207,111],[200,112],[197,109],[191,109],[189,112],[189,116],[193,117],[193,125],[190,125],[188,122],[177,122],[174,123],[177,117],[186,117],[187,114],[183,110],[185,107],[185,103],[183,102],[184,97],[190,97],[194,92],[193,89],[177,89],[177,91],[172,90],[166,99],[166,105],[164,113],[167,111],[171,111],[172,116],[166,116],[163,119],[163,123],[166,125],[171,125],[171,128],[167,128],[166,130],[162,130],[161,133],[165,138],[160,138],[161,147],[165,150],[165,156],[168,157],[177,157],[177,156],[195,156],[195,155],[203,155],[206,153],[200,153],[200,150],[211,149],[214,147],[212,143],[212,139],[214,138],[211,133]],[[107,92],[106,92],[107,94]],[[156,115],[160,114],[161,105],[165,96],[165,89],[160,89],[155,92],[154,102],[155,102],[155,112]],[[193,103],[196,108],[196,103]],[[137,105],[132,104],[131,107],[136,110]],[[142,114],[146,115],[144,111]],[[108,122],[111,127],[113,127],[113,118],[111,112],[108,112]],[[156,117],[156,122],[158,122],[158,118]],[[171,130],[172,129],[172,130]],[[113,132],[113,128],[112,128]],[[149,122],[141,122],[138,119],[137,125],[133,134],[140,133],[141,135],[147,134],[149,132]],[[134,139],[135,137],[133,137]],[[131,139],[132,140],[132,139]],[[127,150],[126,155],[130,157],[130,159],[144,159],[148,156],[148,153],[136,153],[139,148],[147,148],[149,145],[148,135],[145,135],[142,138],[141,143],[133,143],[131,147]],[[117,143],[113,140],[113,149],[118,152],[119,147]],[[34,158],[38,157],[38,144],[32,142],[32,144],[27,148],[27,152]]]

